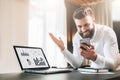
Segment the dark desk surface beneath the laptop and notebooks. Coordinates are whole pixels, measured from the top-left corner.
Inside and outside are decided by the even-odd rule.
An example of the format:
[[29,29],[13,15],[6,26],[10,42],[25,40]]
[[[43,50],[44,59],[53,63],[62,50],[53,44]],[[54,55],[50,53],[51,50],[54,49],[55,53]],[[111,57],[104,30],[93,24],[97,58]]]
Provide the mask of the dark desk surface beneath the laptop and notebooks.
[[82,74],[78,71],[57,74],[9,73],[0,74],[0,80],[120,80],[119,76],[120,72],[114,74]]

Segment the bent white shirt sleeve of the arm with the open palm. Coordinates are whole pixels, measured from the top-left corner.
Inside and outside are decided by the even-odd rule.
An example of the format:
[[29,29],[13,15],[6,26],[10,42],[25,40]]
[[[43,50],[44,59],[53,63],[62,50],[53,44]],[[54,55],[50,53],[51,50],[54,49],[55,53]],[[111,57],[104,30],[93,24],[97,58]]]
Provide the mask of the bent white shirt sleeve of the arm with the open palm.
[[82,57],[80,56],[80,52],[79,52],[79,40],[76,36],[74,37],[73,40],[73,54],[68,51],[67,49],[64,49],[64,51],[62,52],[64,54],[64,56],[66,57],[66,59],[68,60],[68,62],[74,67],[74,68],[78,68],[80,67],[81,63],[82,63]]

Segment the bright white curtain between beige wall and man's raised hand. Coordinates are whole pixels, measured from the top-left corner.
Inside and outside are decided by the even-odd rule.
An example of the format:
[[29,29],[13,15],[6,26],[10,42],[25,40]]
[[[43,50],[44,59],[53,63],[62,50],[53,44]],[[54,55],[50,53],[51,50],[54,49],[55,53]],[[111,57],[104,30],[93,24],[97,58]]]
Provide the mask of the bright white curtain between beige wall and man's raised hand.
[[31,0],[29,15],[29,46],[43,48],[50,66],[67,66],[65,58],[49,37],[52,32],[66,45],[66,10],[64,0]]

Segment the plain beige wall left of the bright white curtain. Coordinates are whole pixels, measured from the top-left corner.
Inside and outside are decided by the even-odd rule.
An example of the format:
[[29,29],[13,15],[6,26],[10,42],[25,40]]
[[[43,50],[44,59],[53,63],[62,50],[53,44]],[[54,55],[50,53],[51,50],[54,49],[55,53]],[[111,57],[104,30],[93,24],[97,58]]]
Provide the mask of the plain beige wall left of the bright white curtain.
[[27,45],[28,1],[0,0],[0,73],[20,71],[13,45]]

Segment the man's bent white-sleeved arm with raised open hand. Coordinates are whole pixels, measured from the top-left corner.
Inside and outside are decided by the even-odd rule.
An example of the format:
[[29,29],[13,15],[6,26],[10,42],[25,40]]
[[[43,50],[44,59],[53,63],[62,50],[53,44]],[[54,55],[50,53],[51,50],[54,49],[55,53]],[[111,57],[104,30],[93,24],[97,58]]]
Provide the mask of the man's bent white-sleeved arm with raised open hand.
[[68,62],[74,67],[78,68],[80,67],[82,60],[80,58],[80,53],[79,53],[79,47],[74,47],[74,54],[72,54],[70,51],[65,49],[64,43],[61,40],[61,38],[57,39],[52,33],[49,33],[51,39],[54,41],[54,43],[61,49],[63,55],[66,57]]

